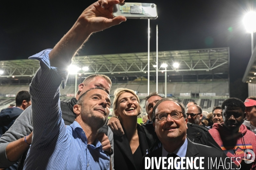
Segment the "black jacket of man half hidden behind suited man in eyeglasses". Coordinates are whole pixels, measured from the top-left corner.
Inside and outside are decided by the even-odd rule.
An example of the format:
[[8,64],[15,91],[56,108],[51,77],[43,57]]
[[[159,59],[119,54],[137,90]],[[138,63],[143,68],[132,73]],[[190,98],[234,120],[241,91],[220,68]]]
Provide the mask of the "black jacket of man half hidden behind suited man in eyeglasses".
[[[215,147],[216,149],[221,150],[219,145],[215,142],[215,140],[212,138],[212,135],[210,135],[205,127],[191,123],[188,123],[187,126],[187,138],[190,139],[192,142],[197,144],[203,144],[209,147]],[[157,148],[159,148],[159,145],[162,146],[162,144],[159,144],[161,142],[159,141],[155,133],[153,123],[144,124],[142,125],[142,127],[144,128],[144,131],[146,133],[150,151],[156,150]]]

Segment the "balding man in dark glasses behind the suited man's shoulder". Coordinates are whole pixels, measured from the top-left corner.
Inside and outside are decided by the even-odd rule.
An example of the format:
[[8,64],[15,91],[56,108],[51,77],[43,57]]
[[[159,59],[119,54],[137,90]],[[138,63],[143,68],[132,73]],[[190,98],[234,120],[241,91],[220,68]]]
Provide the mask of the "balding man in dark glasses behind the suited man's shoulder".
[[[205,124],[202,122],[203,114],[200,106],[196,104],[188,106],[186,115],[189,123],[198,124],[200,126],[206,127]],[[208,127],[206,128],[209,129]]]

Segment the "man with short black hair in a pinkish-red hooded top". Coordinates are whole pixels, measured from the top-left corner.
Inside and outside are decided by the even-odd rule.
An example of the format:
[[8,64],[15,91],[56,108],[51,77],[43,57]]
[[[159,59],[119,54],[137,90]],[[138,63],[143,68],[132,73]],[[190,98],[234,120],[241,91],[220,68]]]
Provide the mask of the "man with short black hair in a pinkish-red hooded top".
[[[256,161],[252,160],[254,162],[250,164],[244,163],[253,158],[253,153],[248,150],[256,153],[256,136],[242,124],[246,116],[243,101],[238,98],[228,98],[222,103],[221,109],[224,123],[213,124],[209,133],[224,153],[232,158],[232,162],[238,168],[240,166],[239,164],[242,164],[241,170],[255,170]],[[248,167],[243,167],[243,164]]]

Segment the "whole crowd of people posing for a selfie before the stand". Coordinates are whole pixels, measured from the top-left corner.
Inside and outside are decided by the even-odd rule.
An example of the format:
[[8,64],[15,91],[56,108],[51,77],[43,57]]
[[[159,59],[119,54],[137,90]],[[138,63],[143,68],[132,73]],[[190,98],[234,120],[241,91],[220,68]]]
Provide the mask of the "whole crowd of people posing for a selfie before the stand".
[[[146,168],[146,158],[171,157],[182,162],[182,157],[204,157],[204,169],[256,169],[255,161],[246,163],[250,160],[247,150],[256,153],[254,97],[245,102],[228,98],[205,114],[194,102],[184,107],[152,92],[145,98],[148,120],[144,118],[142,125],[137,123],[140,100],[126,88],[115,89],[113,117],[108,120],[112,83],[106,75],[88,76],[74,98],[60,101],[60,85],[64,88],[68,78],[66,68],[85,41],[92,33],[126,20],[112,16],[113,5],[121,2],[92,4],[53,49],[30,57],[40,64],[29,85],[31,97],[19,92],[15,107],[0,113],[0,168],[139,170]],[[223,160],[223,165],[209,168],[207,158]]]

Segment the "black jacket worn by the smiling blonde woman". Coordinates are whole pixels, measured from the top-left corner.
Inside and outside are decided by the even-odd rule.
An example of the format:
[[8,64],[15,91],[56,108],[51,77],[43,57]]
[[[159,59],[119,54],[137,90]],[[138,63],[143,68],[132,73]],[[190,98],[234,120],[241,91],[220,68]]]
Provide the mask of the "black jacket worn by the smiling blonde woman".
[[[146,134],[139,124],[137,125],[137,130],[141,153],[142,156],[144,156],[147,152],[150,152]],[[114,160],[115,170],[136,170],[132,150],[126,135],[114,135]],[[137,167],[137,169],[139,169],[139,167]]]

